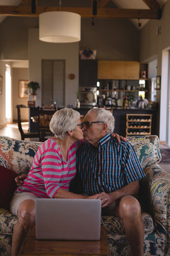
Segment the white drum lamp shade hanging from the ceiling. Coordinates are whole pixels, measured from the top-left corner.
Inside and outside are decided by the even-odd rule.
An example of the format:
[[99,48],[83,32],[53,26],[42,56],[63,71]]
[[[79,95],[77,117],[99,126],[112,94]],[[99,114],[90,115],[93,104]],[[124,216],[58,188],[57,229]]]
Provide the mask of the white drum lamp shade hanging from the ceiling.
[[81,16],[68,11],[40,14],[39,36],[50,43],[73,43],[81,39]]

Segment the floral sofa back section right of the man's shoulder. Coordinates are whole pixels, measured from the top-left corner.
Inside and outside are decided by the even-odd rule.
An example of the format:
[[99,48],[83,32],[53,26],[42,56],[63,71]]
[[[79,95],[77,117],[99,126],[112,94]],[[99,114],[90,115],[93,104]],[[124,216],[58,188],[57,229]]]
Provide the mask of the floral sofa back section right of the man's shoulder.
[[156,135],[128,137],[128,141],[132,144],[143,169],[161,161],[159,139]]

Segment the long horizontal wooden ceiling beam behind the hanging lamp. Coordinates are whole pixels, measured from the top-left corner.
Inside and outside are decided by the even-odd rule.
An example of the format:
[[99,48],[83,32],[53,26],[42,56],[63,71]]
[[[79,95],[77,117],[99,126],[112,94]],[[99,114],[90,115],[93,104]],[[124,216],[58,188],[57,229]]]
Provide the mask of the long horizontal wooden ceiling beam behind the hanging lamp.
[[[39,16],[45,11],[59,11],[60,7],[37,6],[36,14],[31,14],[30,6],[0,6],[0,15],[4,16]],[[82,18],[93,17],[92,8],[80,7],[62,7],[60,11],[71,11],[80,14]],[[159,16],[155,11],[149,9],[98,9],[96,18],[149,18],[158,19]]]

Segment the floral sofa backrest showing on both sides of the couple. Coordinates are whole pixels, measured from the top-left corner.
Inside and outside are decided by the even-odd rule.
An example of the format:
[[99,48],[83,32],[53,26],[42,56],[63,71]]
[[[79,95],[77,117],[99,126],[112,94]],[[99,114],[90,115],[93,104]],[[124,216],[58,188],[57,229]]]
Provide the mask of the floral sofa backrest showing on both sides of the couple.
[[[142,168],[161,161],[159,139],[156,135],[128,137]],[[30,170],[36,151],[42,142],[28,142],[8,137],[0,137],[0,165],[16,174],[26,174]]]

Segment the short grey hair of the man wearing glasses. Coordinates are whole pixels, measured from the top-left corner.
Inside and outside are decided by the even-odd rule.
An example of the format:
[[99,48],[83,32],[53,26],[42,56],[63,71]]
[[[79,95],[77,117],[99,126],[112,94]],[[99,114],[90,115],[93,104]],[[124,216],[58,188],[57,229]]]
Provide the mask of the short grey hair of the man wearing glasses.
[[115,128],[115,118],[109,110],[103,108],[92,108],[88,113],[95,112],[98,121],[105,122],[108,124],[107,132],[112,133]]

